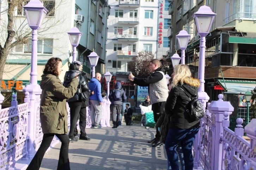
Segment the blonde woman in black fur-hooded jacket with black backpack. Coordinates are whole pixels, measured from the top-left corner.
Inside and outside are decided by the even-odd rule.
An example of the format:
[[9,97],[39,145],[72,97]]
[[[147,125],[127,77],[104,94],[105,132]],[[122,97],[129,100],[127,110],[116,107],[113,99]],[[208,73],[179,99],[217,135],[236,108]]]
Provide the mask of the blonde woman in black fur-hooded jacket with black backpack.
[[[200,80],[191,77],[187,65],[176,65],[172,73],[172,89],[165,105],[165,113],[171,118],[169,131],[165,140],[165,150],[172,170],[179,170],[177,146],[181,144],[184,153],[185,170],[193,170],[194,160],[192,146],[199,131],[200,120],[195,120],[187,113],[189,96],[197,95]],[[184,91],[183,91],[184,90]]]

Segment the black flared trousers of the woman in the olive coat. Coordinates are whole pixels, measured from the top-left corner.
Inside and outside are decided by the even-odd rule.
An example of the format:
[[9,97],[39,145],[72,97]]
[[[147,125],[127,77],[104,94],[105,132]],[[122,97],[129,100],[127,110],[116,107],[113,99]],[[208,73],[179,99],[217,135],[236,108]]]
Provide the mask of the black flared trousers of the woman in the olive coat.
[[27,170],[39,170],[42,159],[44,157],[45,152],[49,148],[51,141],[54,138],[54,135],[57,136],[57,138],[61,141],[61,147],[60,147],[60,156],[59,156],[59,162],[57,170],[70,170],[69,166],[69,159],[68,159],[68,145],[69,145],[69,137],[67,134],[44,134],[42,143],[36,152],[36,155],[31,160]]

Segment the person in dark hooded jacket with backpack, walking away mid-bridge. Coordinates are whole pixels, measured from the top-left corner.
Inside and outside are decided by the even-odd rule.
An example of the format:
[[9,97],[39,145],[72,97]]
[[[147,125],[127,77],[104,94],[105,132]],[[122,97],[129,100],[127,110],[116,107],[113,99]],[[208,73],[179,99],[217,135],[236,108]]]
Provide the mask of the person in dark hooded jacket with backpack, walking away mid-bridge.
[[121,111],[123,102],[126,101],[126,95],[122,89],[121,83],[117,82],[115,89],[112,89],[109,93],[109,101],[111,101],[111,111],[112,111],[112,122],[113,127],[117,128],[119,126],[119,121],[121,121]]

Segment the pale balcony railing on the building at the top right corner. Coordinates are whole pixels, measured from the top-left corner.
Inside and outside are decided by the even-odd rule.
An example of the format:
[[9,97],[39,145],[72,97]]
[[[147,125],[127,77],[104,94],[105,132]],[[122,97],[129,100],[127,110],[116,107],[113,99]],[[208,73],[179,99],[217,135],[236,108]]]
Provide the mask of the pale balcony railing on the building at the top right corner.
[[230,23],[233,20],[256,20],[256,13],[250,12],[237,12],[223,20],[224,25]]

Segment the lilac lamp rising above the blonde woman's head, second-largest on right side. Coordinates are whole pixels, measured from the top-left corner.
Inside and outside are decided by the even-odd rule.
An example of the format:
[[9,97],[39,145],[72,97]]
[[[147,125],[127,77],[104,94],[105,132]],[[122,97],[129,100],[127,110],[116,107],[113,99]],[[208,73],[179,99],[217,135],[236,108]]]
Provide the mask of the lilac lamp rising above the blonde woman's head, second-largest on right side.
[[190,35],[183,27],[183,30],[179,31],[179,34],[176,35],[176,38],[178,39],[179,49],[181,49],[181,64],[185,64],[185,49],[187,49]]

